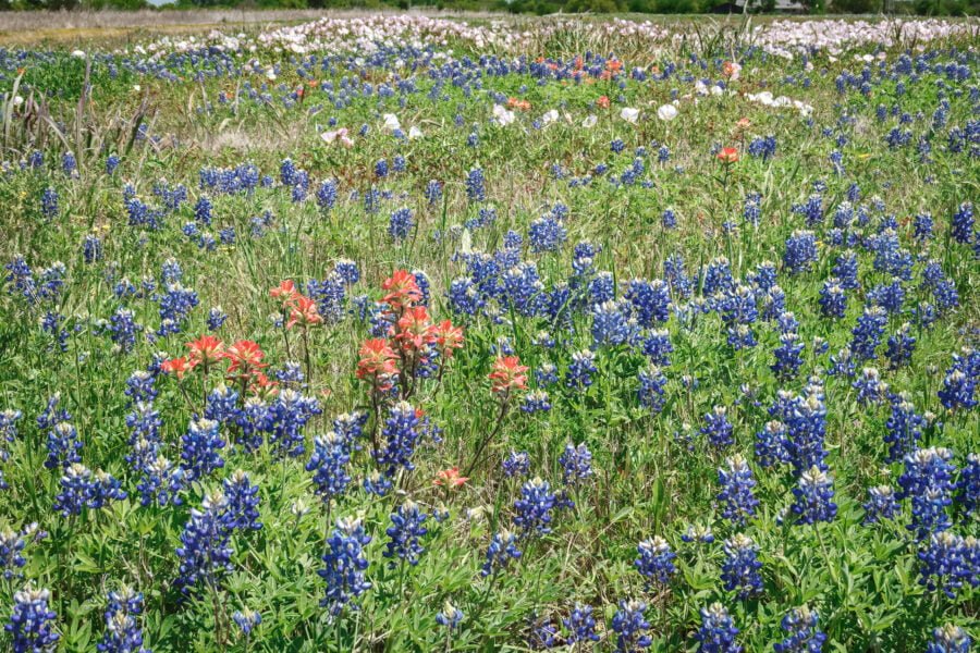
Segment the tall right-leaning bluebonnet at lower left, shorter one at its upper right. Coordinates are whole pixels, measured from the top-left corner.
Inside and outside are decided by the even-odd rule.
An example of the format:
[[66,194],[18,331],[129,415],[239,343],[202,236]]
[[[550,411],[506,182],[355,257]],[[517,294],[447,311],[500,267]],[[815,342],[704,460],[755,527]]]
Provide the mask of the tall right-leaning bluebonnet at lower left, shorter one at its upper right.
[[191,519],[181,533],[176,549],[180,569],[175,586],[189,593],[198,583],[218,587],[221,577],[232,570],[230,530],[224,521],[228,500],[218,490],[205,496],[200,509],[191,510]]

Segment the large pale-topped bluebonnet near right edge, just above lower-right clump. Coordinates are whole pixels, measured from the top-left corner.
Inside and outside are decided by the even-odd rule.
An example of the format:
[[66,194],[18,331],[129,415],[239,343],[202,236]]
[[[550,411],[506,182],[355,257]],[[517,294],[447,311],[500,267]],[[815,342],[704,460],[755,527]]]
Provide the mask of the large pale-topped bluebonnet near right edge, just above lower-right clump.
[[898,478],[902,488],[898,498],[911,500],[911,523],[907,528],[919,540],[952,526],[946,514],[956,488],[952,458],[953,452],[942,447],[916,449],[905,456],[905,472]]

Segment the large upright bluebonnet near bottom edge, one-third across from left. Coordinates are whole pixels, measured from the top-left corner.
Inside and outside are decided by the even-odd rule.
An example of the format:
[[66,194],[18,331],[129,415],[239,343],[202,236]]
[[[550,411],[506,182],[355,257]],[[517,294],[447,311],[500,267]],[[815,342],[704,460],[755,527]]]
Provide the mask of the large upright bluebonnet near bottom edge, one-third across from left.
[[338,616],[345,606],[357,609],[353,600],[371,588],[365,575],[368,567],[364,547],[371,541],[364,532],[359,519],[342,518],[327,540],[327,553],[323,563],[327,568],[317,574],[327,582],[327,594],[320,605],[330,608],[332,616]]

